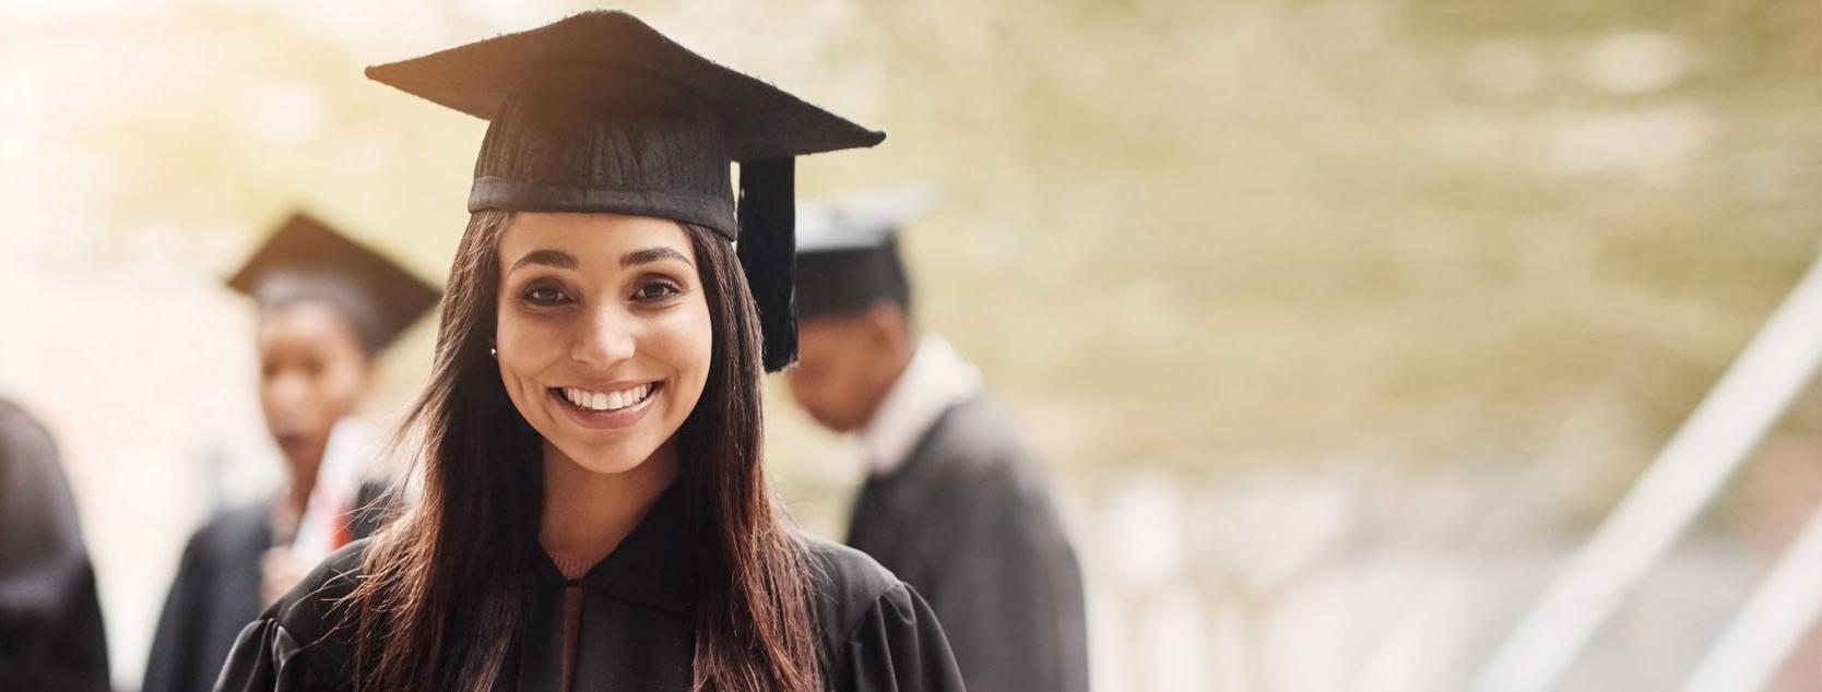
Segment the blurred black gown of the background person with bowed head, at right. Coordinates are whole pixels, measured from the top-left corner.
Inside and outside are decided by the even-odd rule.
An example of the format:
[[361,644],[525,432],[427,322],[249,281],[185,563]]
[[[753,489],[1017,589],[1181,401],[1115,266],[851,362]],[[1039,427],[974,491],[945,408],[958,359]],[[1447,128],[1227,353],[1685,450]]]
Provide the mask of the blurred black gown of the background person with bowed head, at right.
[[929,599],[969,690],[1088,688],[1082,572],[1039,466],[986,397],[860,490],[847,544]]

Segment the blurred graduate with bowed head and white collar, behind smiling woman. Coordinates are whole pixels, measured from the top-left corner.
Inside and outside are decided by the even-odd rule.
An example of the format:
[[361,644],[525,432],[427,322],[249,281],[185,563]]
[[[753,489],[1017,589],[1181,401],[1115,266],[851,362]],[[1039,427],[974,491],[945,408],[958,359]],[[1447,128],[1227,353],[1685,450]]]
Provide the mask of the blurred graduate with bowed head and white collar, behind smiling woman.
[[896,239],[931,202],[913,188],[800,209],[791,392],[860,437],[847,544],[929,599],[967,688],[1086,690],[1082,574],[1044,473],[980,373],[913,330]]

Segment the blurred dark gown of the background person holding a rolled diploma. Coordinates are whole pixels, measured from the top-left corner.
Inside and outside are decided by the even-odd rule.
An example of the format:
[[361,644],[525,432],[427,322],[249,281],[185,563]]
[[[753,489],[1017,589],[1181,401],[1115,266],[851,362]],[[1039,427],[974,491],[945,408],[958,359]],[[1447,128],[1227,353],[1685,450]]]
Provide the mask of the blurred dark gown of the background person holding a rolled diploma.
[[[366,506],[379,490],[363,484],[357,506]],[[261,559],[273,546],[271,503],[277,501],[268,497],[222,510],[189,535],[159,616],[140,692],[195,692],[215,685],[235,637],[266,608]],[[368,514],[353,521],[355,535],[374,530],[364,517]]]

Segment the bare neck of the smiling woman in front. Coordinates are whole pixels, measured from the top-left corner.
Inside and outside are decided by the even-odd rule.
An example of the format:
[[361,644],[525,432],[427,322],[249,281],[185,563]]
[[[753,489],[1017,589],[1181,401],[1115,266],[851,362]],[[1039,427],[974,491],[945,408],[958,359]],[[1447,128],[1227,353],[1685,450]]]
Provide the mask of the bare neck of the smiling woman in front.
[[676,475],[672,443],[621,473],[590,472],[545,443],[545,514],[537,543],[559,561],[594,565],[632,534]]

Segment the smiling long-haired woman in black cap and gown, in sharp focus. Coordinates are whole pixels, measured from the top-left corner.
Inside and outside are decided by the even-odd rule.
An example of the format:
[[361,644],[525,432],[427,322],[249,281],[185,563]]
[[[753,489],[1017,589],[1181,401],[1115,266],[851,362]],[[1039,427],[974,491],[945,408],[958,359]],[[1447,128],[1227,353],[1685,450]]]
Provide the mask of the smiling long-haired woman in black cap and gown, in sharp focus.
[[794,157],[884,135],[618,11],[368,76],[490,120],[408,428],[423,499],[219,688],[960,690],[924,599],[791,528],[762,463]]

